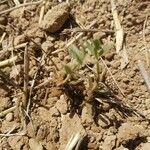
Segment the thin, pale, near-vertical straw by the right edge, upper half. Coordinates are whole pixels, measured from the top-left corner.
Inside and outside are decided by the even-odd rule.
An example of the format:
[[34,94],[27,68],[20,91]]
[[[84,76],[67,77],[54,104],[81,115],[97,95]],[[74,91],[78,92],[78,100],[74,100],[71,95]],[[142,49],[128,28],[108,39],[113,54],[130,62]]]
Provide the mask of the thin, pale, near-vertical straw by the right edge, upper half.
[[146,15],[146,18],[145,18],[145,21],[144,21],[144,25],[143,25],[143,43],[144,43],[145,50],[146,50],[146,52],[145,52],[146,64],[147,64],[147,67],[149,67],[149,65],[150,65],[149,51],[148,51],[147,42],[146,42],[146,38],[145,38],[145,28],[146,28],[147,19],[148,19],[148,14]]

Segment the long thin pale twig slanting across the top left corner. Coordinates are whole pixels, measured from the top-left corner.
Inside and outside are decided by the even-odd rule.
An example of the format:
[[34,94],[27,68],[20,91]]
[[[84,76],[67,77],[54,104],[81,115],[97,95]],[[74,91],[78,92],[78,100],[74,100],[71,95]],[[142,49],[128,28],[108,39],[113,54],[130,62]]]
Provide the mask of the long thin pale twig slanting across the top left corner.
[[32,2],[32,3],[24,3],[24,4],[17,5],[17,6],[15,6],[15,7],[10,8],[10,9],[1,11],[1,12],[0,12],[0,15],[5,14],[5,13],[9,13],[9,12],[11,12],[11,11],[13,11],[13,10],[15,10],[15,9],[21,8],[21,7],[25,7],[25,6],[29,6],[29,5],[30,5],[30,6],[31,6],[31,5],[38,5],[38,4],[40,4],[42,1],[43,1],[43,0],[40,0],[40,1],[37,1],[37,2]]

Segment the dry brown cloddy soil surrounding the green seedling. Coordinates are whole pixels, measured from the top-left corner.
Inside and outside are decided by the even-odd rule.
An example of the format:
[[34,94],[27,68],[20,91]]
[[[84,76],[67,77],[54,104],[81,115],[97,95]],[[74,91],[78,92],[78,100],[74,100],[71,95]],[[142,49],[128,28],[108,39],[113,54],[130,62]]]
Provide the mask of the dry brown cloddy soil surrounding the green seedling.
[[[1,38],[6,33],[0,41],[0,61],[20,57],[0,68],[0,149],[64,150],[78,132],[85,135],[79,149],[150,149],[150,97],[138,67],[141,60],[149,72],[149,0],[117,2],[129,63],[122,68],[122,51],[118,54],[113,47],[102,58],[122,92],[108,71],[101,80],[105,86],[92,91],[92,57],[87,58],[89,67],[83,65],[67,82],[62,71],[71,60],[67,44],[93,21],[90,29],[96,30],[84,30],[76,45],[80,47],[88,39],[100,40],[103,47],[115,45],[110,0],[47,1],[39,24],[42,6],[39,3],[1,13],[15,4],[13,0],[0,2]],[[17,48],[22,43],[25,46]],[[102,77],[106,67],[101,60],[99,63]],[[25,100],[30,104],[28,110]],[[5,112],[9,108],[12,110]]]

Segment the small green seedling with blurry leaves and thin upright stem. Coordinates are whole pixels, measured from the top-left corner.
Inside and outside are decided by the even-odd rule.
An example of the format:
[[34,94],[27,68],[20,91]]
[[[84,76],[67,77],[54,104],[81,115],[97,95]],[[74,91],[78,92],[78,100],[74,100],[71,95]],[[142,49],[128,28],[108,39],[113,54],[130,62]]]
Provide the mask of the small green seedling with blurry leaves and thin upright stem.
[[96,73],[95,73],[95,80],[99,83],[99,76],[100,76],[100,64],[99,64],[99,57],[103,54],[104,50],[101,46],[99,40],[88,40],[83,44],[81,48],[78,48],[76,45],[71,45],[69,47],[69,53],[71,55],[71,62],[64,66],[65,73],[68,75],[72,75],[80,66],[84,64],[84,59],[86,55],[91,54],[94,58],[96,63]]

